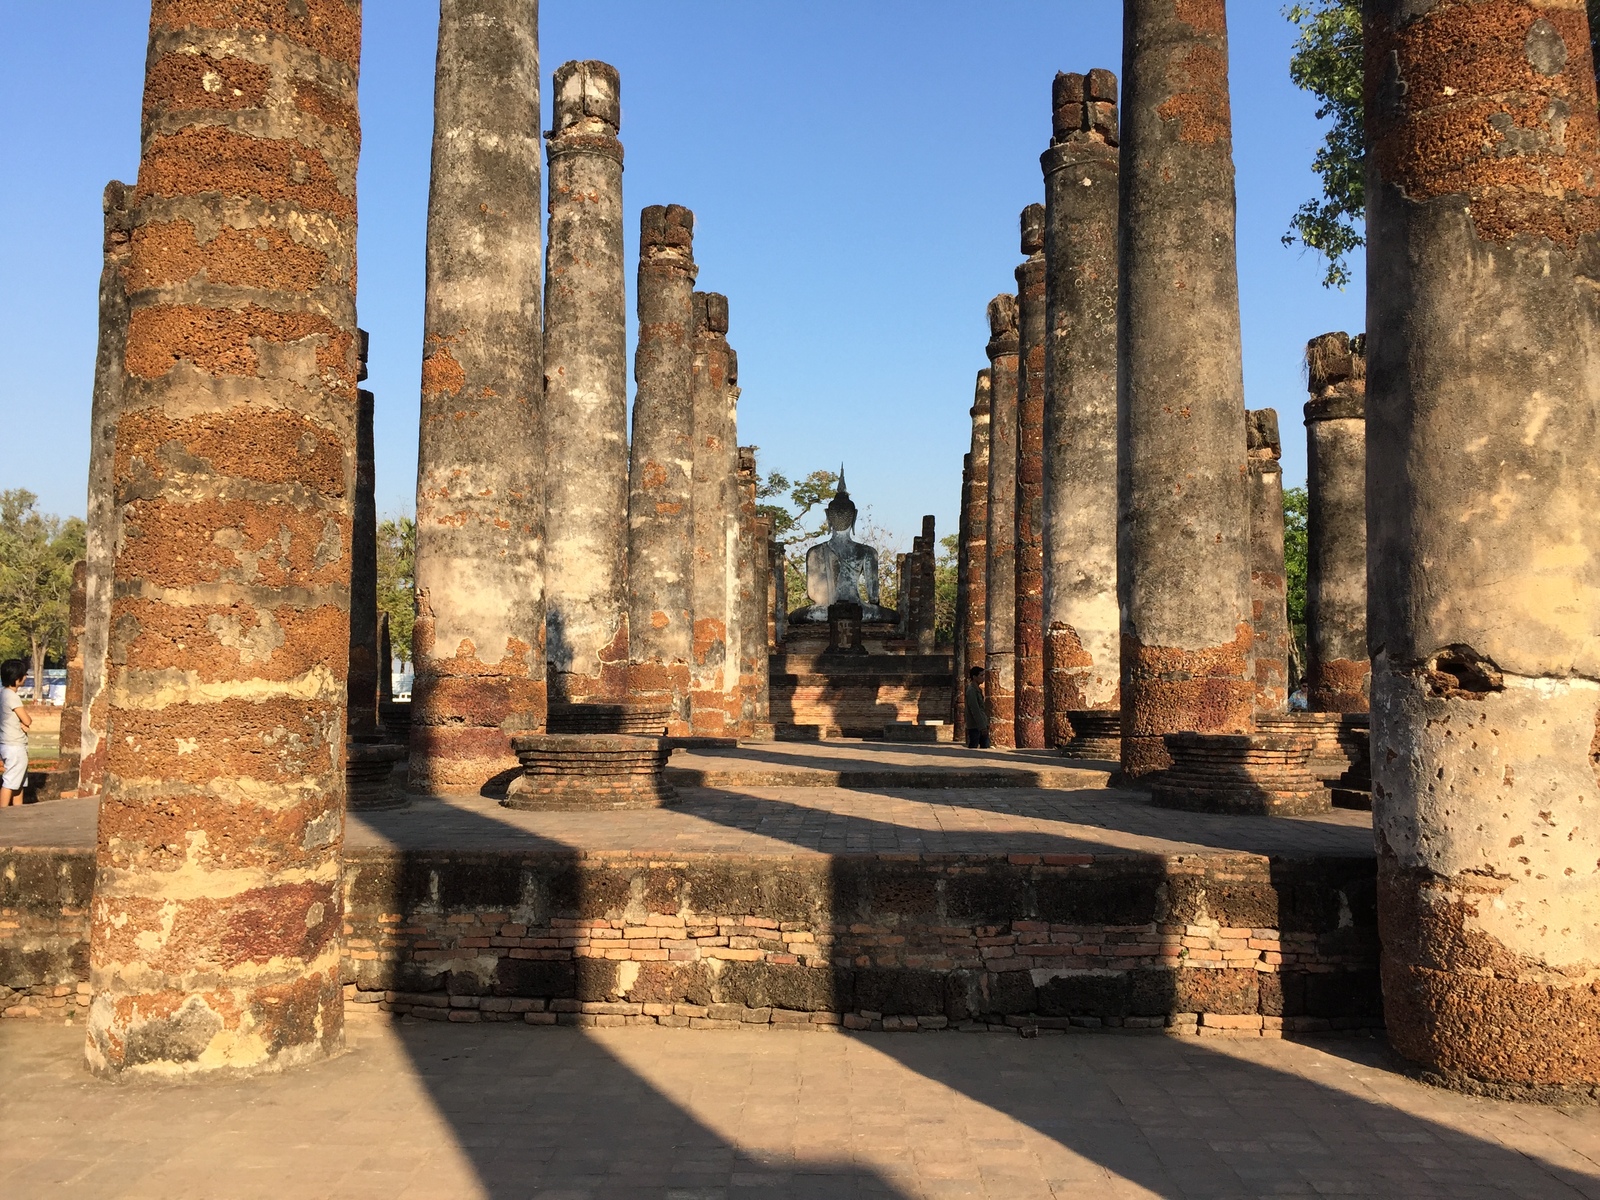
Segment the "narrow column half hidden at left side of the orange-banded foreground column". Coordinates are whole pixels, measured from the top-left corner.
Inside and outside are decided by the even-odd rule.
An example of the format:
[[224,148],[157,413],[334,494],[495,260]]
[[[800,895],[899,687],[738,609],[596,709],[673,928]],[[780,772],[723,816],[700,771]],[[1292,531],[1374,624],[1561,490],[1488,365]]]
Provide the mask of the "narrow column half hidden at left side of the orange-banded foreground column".
[[[90,410],[90,491],[83,578],[83,702],[78,710],[80,795],[98,795],[106,741],[106,651],[110,645],[110,568],[117,555],[112,456],[122,414],[123,347],[128,341],[131,189],[112,179],[102,198],[106,235],[99,283],[99,341]],[[69,781],[70,782],[70,781]]]

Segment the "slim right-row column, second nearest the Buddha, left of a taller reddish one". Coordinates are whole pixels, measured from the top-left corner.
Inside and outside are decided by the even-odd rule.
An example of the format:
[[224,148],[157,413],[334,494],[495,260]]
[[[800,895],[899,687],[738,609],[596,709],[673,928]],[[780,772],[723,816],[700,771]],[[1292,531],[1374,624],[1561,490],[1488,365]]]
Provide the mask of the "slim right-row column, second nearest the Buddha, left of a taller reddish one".
[[989,301],[989,560],[984,651],[989,738],[1016,746],[1016,296]]

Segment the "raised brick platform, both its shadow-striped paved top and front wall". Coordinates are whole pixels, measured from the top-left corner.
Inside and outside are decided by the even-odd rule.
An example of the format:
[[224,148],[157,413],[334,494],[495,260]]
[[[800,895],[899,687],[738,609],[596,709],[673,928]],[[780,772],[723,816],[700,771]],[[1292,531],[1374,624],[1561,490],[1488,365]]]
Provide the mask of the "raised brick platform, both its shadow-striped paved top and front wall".
[[[966,755],[805,749],[872,770]],[[16,1016],[82,1003],[93,816],[0,814]],[[346,851],[347,995],[366,1011],[1251,1035],[1378,1019],[1357,813],[1173,813],[1104,787],[693,789],[626,814],[450,797],[352,814]]]

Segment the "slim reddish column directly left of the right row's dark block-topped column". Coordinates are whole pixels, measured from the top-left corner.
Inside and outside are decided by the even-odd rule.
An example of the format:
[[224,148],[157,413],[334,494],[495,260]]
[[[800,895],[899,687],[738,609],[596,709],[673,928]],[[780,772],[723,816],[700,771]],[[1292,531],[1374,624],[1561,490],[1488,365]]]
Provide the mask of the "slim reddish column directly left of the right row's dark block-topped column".
[[1016,269],[1016,744],[1045,744],[1045,206],[1022,210]]

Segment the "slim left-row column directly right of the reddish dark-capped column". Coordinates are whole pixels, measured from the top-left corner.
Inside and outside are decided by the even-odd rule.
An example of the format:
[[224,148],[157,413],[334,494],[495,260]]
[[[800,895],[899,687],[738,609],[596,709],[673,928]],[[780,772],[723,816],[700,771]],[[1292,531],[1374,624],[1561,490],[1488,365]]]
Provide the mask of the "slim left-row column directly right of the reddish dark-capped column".
[[[738,675],[738,650],[728,654],[728,534],[734,530],[738,448],[730,414],[728,298],[694,293],[694,466],[691,522],[694,566],[694,654],[690,659],[690,725],[698,738],[731,738],[739,723],[730,712],[728,675]],[[734,688],[736,693],[736,688]]]

